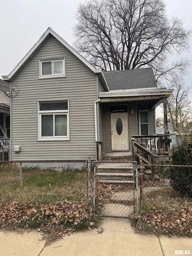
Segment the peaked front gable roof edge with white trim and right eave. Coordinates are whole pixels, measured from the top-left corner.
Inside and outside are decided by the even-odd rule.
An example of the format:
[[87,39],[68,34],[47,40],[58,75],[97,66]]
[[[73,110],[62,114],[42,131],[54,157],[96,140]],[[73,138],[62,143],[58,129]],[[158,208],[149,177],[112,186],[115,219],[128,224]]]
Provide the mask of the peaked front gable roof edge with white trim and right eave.
[[3,80],[12,81],[14,77],[22,70],[22,68],[29,62],[30,59],[37,53],[41,46],[47,41],[47,39],[52,35],[55,37],[61,44],[64,45],[71,53],[73,53],[81,62],[83,62],[92,72],[98,74],[101,82],[104,85],[106,91],[109,91],[105,78],[103,76],[102,68],[94,68],[86,59],[84,59],[73,47],[67,44],[57,33],[55,33],[51,28],[48,28],[46,32],[41,36],[37,43],[31,48],[31,50],[26,54],[26,56],[16,65],[13,71],[10,72],[8,76],[2,76]]

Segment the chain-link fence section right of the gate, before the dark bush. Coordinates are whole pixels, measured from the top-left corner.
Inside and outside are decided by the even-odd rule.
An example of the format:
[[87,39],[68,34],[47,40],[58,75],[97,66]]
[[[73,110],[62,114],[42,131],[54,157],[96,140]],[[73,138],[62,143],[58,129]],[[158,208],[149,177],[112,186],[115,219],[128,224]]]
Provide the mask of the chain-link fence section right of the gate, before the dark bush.
[[[173,205],[176,201],[178,205],[182,204],[185,199],[192,203],[192,165],[142,163],[140,165],[141,211],[147,211],[147,206],[152,203],[163,206],[166,200]],[[154,181],[151,181],[152,171]]]

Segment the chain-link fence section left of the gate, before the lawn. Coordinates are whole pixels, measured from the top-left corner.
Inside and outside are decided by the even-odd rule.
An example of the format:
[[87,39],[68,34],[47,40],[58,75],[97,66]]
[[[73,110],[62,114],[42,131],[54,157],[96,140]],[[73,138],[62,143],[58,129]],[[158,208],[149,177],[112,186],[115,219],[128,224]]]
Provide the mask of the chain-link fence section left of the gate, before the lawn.
[[87,161],[0,161],[0,203],[87,200]]

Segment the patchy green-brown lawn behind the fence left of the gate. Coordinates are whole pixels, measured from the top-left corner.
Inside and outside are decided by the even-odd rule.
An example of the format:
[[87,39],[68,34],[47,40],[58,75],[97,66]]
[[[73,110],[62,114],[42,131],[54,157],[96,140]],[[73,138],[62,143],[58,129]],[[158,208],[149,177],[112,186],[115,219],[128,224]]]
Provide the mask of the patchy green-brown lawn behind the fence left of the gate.
[[74,202],[85,200],[87,173],[77,171],[57,171],[40,167],[22,168],[23,193],[21,198],[19,167],[5,164],[0,167],[0,203],[11,201],[23,204],[55,203],[65,199]]

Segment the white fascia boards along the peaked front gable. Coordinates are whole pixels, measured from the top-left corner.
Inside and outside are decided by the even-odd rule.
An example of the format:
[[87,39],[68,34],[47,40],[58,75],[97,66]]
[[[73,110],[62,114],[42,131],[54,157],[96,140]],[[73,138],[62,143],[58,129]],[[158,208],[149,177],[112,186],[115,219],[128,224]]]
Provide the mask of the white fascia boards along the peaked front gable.
[[[80,61],[82,61],[91,71],[96,73],[96,68],[94,68],[87,60],[85,60],[79,53],[76,52],[67,42],[65,42],[59,35],[57,35],[51,28],[48,28],[46,32],[41,36],[37,43],[31,48],[31,50],[26,54],[26,56],[16,65],[16,67],[11,71],[11,73],[4,80],[10,80],[16,71],[27,61],[29,56],[38,48],[42,41],[46,38],[48,34],[55,37],[61,44],[63,44],[68,50],[70,50]],[[100,70],[100,69],[99,69]]]

